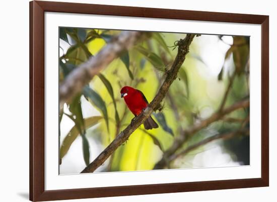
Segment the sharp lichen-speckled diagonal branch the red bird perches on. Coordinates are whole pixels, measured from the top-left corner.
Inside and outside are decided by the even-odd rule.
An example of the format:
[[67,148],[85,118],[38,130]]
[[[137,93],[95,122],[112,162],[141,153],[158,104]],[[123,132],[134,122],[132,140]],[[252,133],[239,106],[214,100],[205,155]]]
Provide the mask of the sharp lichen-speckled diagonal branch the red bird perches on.
[[172,64],[170,70],[166,72],[166,78],[161,85],[157,95],[154,97],[149,106],[144,110],[143,113],[138,115],[135,120],[127,126],[108,146],[100,155],[90,163],[81,173],[94,172],[105,160],[115,152],[115,150],[125,141],[128,140],[129,136],[152,114],[159,108],[160,103],[165,97],[170,85],[177,78],[177,73],[185,60],[186,54],[189,52],[189,45],[191,44],[195,35],[187,34],[185,39],[178,41],[178,53]]

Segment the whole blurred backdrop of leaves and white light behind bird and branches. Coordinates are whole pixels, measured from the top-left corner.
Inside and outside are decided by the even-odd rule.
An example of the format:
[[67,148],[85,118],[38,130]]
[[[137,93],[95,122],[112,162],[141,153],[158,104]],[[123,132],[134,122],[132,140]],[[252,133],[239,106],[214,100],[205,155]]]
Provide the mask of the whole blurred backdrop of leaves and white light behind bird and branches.
[[[59,29],[59,81],[96,55],[117,30]],[[149,102],[177,55],[175,42],[186,34],[147,33],[147,38],[121,54],[95,76],[59,115],[60,174],[80,173],[130,123],[133,115],[120,98],[129,85],[144,92]],[[190,45],[178,78],[170,86],[161,112],[152,117],[158,129],[142,125],[96,172],[151,170],[173,141],[188,127],[220,108],[249,97],[249,37],[204,35]],[[247,122],[248,120],[248,122]],[[230,113],[198,131],[178,152],[217,134],[249,129],[249,109]],[[202,144],[178,156],[167,168],[201,168],[250,164],[249,133]]]

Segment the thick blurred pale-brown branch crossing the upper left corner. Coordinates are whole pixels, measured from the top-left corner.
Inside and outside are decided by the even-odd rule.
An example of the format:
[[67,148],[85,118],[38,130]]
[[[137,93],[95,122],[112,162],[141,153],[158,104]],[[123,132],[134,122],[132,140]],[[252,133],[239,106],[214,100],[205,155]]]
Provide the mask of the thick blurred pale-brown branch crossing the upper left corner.
[[129,49],[140,39],[143,32],[121,32],[113,38],[96,56],[89,58],[88,61],[74,69],[62,82],[59,87],[59,106],[63,107],[65,102],[71,100],[74,95],[81,92],[83,87],[104,69],[109,63],[117,58],[120,53]]

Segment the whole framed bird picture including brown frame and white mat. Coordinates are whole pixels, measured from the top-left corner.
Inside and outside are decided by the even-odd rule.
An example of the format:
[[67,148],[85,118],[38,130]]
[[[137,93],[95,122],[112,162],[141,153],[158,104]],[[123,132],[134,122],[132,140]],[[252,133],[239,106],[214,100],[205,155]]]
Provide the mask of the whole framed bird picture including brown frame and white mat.
[[30,2],[30,200],[268,186],[268,22]]

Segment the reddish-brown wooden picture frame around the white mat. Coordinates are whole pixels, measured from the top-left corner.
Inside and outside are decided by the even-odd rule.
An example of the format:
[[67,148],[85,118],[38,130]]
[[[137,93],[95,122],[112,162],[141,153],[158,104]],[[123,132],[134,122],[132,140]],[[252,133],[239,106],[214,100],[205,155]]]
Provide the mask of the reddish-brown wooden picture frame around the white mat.
[[[63,190],[44,189],[44,12],[249,23],[261,25],[261,178]],[[269,185],[269,17],[60,2],[30,2],[30,200],[60,200]]]

